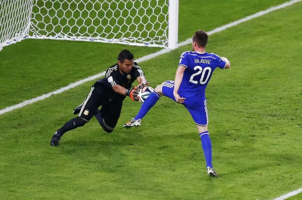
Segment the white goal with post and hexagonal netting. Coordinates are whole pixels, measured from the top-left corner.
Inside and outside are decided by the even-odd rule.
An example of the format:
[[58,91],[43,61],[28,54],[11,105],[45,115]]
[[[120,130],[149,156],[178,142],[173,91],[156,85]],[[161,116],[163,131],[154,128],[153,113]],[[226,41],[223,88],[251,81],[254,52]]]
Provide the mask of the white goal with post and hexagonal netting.
[[179,0],[1,0],[0,51],[26,38],[177,48]]

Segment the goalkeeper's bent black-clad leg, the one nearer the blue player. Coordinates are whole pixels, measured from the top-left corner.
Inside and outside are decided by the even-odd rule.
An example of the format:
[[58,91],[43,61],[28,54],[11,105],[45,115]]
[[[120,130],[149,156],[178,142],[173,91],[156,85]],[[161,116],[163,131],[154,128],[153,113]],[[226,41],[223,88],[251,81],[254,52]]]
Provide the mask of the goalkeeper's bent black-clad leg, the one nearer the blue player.
[[120,118],[122,105],[122,101],[105,101],[99,112],[94,115],[100,126],[107,133],[111,133],[116,127],[116,123]]

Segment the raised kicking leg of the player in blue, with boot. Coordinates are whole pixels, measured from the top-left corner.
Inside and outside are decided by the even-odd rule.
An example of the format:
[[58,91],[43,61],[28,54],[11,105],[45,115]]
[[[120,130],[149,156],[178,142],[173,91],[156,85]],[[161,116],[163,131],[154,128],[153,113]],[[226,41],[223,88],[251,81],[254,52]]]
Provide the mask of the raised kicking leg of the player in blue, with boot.
[[168,81],[165,81],[162,84],[156,86],[152,94],[142,104],[138,114],[130,121],[126,122],[123,125],[124,128],[139,127],[141,125],[141,119],[143,119],[143,117],[149,112],[149,110],[156,104],[159,98],[164,95],[162,88],[166,82]]

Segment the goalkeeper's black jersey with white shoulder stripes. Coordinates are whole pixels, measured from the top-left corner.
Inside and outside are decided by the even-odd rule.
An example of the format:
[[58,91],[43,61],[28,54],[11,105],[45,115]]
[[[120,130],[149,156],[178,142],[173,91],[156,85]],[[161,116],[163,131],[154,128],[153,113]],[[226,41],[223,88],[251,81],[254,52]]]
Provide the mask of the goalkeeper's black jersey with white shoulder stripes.
[[124,100],[125,95],[116,93],[112,87],[114,85],[120,85],[126,89],[131,89],[132,83],[137,77],[144,77],[143,70],[136,62],[133,62],[133,67],[130,73],[120,73],[119,65],[116,63],[106,70],[105,77],[97,80],[94,83],[94,87],[102,91],[102,95],[106,99]]

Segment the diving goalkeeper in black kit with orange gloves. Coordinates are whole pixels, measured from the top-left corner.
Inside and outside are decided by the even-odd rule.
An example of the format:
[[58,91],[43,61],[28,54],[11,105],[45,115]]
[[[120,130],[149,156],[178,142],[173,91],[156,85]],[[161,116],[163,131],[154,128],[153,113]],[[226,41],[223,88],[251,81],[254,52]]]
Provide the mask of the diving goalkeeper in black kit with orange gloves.
[[[133,54],[127,49],[120,52],[118,62],[107,69],[105,78],[97,80],[84,102],[74,109],[73,114],[78,114],[78,117],[70,119],[54,133],[50,141],[51,146],[58,146],[64,133],[84,126],[93,116],[104,131],[113,131],[126,96],[138,101],[139,89],[149,84],[142,69],[133,62],[133,58]],[[139,86],[130,89],[135,80],[139,82]]]

